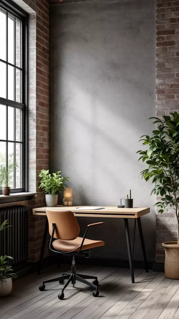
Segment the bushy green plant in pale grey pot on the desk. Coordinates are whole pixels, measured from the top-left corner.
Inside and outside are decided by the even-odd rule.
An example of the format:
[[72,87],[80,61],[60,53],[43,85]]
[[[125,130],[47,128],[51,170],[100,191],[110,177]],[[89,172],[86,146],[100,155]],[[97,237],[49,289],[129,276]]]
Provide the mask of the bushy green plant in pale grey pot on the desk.
[[45,199],[47,207],[56,207],[58,201],[58,193],[64,190],[65,181],[69,177],[61,176],[61,171],[50,174],[49,170],[42,169],[39,173],[40,187],[45,191]]

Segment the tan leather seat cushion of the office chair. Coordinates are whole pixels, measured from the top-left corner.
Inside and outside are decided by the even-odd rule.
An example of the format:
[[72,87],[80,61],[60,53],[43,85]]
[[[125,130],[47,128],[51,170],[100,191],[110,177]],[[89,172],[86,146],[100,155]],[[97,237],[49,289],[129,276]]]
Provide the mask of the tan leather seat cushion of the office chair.
[[[82,237],[77,237],[73,240],[57,239],[52,244],[56,250],[68,252],[68,251],[79,251],[81,243],[82,243]],[[87,250],[87,249],[95,248],[99,246],[104,246],[104,241],[97,241],[97,240],[91,240],[86,238],[84,240],[82,250]]]

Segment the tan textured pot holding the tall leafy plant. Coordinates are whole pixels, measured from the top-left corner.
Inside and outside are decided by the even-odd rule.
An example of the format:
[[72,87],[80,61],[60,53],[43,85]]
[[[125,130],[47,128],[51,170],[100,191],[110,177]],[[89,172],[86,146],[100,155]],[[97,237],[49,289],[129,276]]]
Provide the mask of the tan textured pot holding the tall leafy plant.
[[179,245],[177,241],[162,243],[165,248],[165,276],[170,279],[179,279]]

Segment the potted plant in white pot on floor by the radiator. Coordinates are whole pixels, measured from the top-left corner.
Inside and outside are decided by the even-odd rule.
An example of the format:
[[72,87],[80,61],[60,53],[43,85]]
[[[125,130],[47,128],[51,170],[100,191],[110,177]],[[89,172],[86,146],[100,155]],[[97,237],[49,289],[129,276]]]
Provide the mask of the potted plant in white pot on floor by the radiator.
[[[0,225],[0,231],[10,227],[7,220]],[[7,258],[13,259],[11,256],[0,256],[0,296],[8,296],[12,291],[12,278],[16,278],[11,266],[7,265]]]

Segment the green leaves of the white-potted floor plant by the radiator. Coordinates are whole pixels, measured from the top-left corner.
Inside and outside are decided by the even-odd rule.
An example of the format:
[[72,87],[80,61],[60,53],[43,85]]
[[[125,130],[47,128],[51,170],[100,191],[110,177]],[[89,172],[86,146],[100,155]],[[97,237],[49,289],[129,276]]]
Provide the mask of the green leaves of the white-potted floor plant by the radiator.
[[[4,230],[7,227],[10,227],[8,220],[4,220],[4,222],[0,225],[0,231]],[[7,278],[17,278],[17,275],[13,273],[13,269],[11,266],[6,265],[7,258],[13,259],[11,256],[0,256],[0,284],[3,286],[3,283],[6,282]]]

